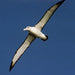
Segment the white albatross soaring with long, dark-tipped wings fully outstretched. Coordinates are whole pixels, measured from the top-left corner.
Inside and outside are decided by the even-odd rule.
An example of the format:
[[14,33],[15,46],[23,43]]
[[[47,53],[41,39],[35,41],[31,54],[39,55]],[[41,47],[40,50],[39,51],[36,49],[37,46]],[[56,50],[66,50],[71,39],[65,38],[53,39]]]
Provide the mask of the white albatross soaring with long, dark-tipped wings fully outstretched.
[[9,71],[11,71],[11,69],[14,67],[14,65],[16,64],[16,62],[19,60],[19,58],[23,55],[23,53],[26,51],[26,49],[30,46],[30,44],[36,39],[36,38],[40,38],[43,41],[46,41],[48,39],[48,36],[43,34],[41,31],[43,29],[43,27],[45,26],[45,24],[48,22],[48,20],[51,18],[51,16],[53,15],[53,13],[56,11],[56,9],[64,2],[65,0],[59,1],[58,3],[56,3],[55,5],[53,5],[52,7],[50,7],[46,13],[44,14],[44,16],[42,17],[42,19],[34,26],[27,26],[26,28],[24,28],[24,31],[28,31],[28,36],[27,38],[24,40],[24,42],[22,43],[22,45],[18,48],[18,50],[16,51]]

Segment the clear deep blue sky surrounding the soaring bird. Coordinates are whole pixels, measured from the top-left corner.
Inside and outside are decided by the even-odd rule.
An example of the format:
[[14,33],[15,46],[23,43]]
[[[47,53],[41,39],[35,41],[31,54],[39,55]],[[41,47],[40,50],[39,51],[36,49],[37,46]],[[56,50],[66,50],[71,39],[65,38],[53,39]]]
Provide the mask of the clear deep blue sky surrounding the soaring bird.
[[28,32],[59,0],[0,0],[0,75],[75,75],[75,0],[66,0],[9,72],[11,60]]

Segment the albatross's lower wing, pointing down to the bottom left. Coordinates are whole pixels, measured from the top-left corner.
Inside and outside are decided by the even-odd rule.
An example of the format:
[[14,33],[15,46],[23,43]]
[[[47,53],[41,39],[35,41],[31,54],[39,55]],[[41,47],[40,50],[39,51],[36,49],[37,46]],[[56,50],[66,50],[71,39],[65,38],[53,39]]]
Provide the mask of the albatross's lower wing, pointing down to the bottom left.
[[16,51],[16,53],[12,59],[9,71],[11,71],[11,69],[14,67],[16,62],[19,60],[19,58],[22,56],[22,54],[26,51],[26,49],[30,46],[30,44],[32,43],[32,41],[34,39],[35,39],[35,37],[29,33],[26,40],[23,42],[23,44]]

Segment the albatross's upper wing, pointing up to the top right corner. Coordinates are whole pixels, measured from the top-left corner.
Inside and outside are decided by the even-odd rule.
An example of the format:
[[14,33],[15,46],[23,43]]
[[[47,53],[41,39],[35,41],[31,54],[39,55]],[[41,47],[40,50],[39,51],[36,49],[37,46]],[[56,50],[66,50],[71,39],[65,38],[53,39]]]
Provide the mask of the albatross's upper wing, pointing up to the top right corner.
[[53,15],[53,13],[56,11],[56,9],[64,2],[64,0],[56,3],[55,5],[53,5],[52,7],[50,7],[46,13],[44,14],[44,16],[42,17],[42,19],[35,25],[35,27],[37,29],[39,29],[40,31],[43,29],[44,25],[48,22],[48,20],[51,18],[51,16]]

